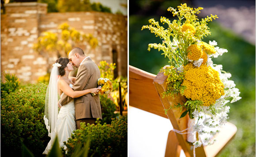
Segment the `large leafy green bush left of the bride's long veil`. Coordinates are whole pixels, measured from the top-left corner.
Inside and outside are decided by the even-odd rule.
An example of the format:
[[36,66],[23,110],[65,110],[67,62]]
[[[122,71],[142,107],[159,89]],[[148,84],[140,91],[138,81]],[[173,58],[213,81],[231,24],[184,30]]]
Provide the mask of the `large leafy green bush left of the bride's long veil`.
[[20,156],[23,142],[41,156],[49,142],[43,120],[46,88],[43,83],[29,84],[1,93],[1,155]]

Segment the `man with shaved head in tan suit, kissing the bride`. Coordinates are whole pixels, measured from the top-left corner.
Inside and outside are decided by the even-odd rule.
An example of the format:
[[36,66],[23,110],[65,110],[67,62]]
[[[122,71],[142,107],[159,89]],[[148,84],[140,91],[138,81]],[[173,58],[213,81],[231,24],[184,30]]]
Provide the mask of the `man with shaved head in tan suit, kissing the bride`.
[[[74,91],[82,91],[89,88],[97,88],[97,80],[101,77],[98,66],[91,58],[84,55],[83,50],[75,47],[70,51],[68,58],[73,66],[78,68]],[[63,95],[59,103],[61,106],[68,104],[72,98]],[[91,94],[83,95],[75,98],[75,120],[76,128],[80,128],[80,122],[94,124],[96,118],[102,119],[102,110],[99,95],[92,96]]]

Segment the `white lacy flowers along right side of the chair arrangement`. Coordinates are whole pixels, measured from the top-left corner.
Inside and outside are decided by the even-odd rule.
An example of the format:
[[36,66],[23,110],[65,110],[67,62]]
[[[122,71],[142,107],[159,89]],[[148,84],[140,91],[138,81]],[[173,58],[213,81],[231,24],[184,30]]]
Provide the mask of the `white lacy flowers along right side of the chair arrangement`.
[[[217,42],[209,41],[209,44],[216,46]],[[207,66],[211,66],[213,69],[218,71],[220,80],[224,85],[225,95],[222,95],[219,99],[217,99],[215,104],[212,106],[215,109],[215,113],[211,112],[209,106],[203,106],[201,111],[194,110],[192,113],[193,117],[196,118],[196,122],[193,127],[194,131],[197,131],[200,136],[200,141],[195,141],[193,143],[195,147],[201,146],[202,143],[203,145],[211,145],[215,142],[215,139],[212,139],[212,137],[218,133],[219,128],[222,127],[228,119],[227,113],[229,113],[230,106],[226,106],[226,103],[230,101],[227,99],[232,98],[230,103],[241,99],[239,96],[239,89],[235,88],[236,84],[234,81],[228,80],[231,77],[231,74],[223,71],[222,65],[215,65],[211,60],[212,57],[216,58],[219,55],[227,52],[227,50],[219,47],[215,47],[215,50],[217,51],[215,54],[207,55]]]

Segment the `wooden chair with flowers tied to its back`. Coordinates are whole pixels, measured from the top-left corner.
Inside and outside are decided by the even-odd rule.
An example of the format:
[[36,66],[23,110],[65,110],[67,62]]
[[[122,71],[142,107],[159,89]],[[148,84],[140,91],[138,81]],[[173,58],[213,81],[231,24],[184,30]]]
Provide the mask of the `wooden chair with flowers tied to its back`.
[[[145,110],[158,116],[169,118],[173,128],[182,131],[187,128],[188,115],[179,119],[180,110],[168,110],[167,115],[164,109],[169,109],[177,103],[186,101],[185,97],[178,95],[174,98],[162,98],[162,92],[166,90],[166,76],[163,73],[154,75],[141,69],[129,66],[129,105]],[[237,132],[234,124],[229,122],[215,135],[217,142],[210,146],[196,148],[196,157],[215,157],[226,146]],[[193,146],[186,141],[187,134],[181,135],[173,130],[169,131],[166,144],[166,157],[179,157],[183,149],[186,157],[193,157]]]

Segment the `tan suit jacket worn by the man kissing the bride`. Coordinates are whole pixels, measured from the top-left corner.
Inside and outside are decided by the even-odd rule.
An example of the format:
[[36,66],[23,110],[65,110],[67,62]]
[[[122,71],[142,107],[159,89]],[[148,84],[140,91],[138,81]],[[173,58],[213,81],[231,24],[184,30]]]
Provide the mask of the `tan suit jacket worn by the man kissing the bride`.
[[[101,77],[98,66],[91,60],[90,57],[86,58],[78,68],[75,84],[73,85],[74,91],[83,91],[89,88],[97,88],[97,80]],[[66,105],[73,99],[68,95],[63,95],[60,99],[60,104]],[[99,95],[92,96],[90,93],[75,98],[75,119],[82,118],[100,118],[102,119],[102,110]]]

